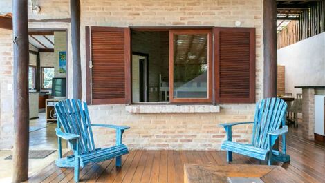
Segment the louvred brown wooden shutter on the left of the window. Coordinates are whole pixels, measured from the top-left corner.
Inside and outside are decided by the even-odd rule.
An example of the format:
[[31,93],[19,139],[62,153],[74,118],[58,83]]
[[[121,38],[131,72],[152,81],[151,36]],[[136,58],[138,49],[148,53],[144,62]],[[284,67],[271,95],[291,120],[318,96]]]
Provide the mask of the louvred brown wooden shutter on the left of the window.
[[131,102],[129,28],[86,27],[87,103]]

